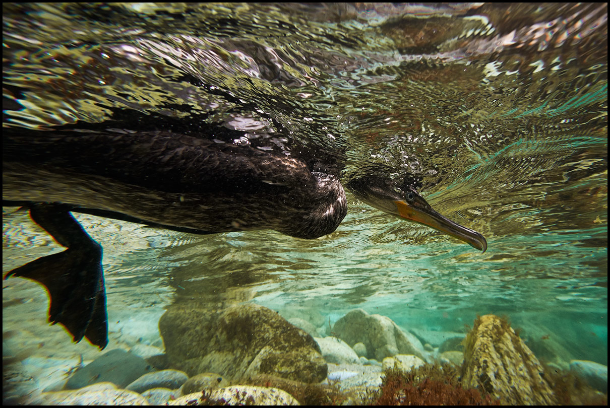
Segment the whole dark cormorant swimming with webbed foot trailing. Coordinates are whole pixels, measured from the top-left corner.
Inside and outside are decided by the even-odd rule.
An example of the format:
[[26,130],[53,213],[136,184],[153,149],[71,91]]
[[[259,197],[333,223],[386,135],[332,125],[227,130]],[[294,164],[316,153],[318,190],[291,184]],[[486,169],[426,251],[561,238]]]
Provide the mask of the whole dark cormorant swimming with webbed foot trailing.
[[[250,145],[127,129],[9,129],[2,140],[3,205],[29,209],[67,248],[6,277],[45,285],[49,321],[100,348],[108,342],[102,248],[70,212],[196,234],[274,229],[298,238],[335,231],[347,212],[339,174]],[[410,180],[364,172],[346,187],[384,212],[487,249],[483,235],[434,211]]]

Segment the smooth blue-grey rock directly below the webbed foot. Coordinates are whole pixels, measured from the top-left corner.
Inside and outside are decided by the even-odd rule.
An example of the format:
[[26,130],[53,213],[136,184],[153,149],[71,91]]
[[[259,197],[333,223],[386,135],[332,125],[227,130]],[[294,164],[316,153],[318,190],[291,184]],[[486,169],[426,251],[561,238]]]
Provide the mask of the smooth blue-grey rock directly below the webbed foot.
[[115,349],[76,370],[64,389],[76,390],[98,382],[112,382],[117,387],[124,388],[153,370],[142,357]]

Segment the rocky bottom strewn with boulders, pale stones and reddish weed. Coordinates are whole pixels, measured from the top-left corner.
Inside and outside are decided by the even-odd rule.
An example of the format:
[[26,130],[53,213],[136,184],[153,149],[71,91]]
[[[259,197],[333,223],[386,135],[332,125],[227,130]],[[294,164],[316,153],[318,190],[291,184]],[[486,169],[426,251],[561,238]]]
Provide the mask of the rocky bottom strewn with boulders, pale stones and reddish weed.
[[[4,303],[41,307],[18,299]],[[40,321],[11,322],[10,313],[4,314],[4,404],[607,401],[606,365],[559,357],[540,363],[518,331],[495,315],[478,317],[470,332],[458,333],[406,330],[362,309],[331,324],[314,315],[285,319],[254,303],[210,310],[185,302],[167,307],[156,336],[133,324],[149,322],[152,315],[126,318],[125,331],[119,331],[122,343],[111,342],[114,348],[100,353],[70,343],[59,327],[41,340],[32,333]],[[19,329],[6,328],[17,324]],[[79,354],[82,347],[87,351]],[[428,399],[421,399],[422,392]]]

